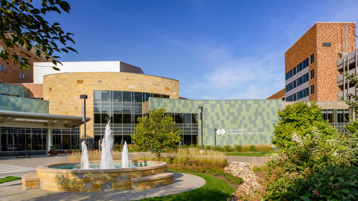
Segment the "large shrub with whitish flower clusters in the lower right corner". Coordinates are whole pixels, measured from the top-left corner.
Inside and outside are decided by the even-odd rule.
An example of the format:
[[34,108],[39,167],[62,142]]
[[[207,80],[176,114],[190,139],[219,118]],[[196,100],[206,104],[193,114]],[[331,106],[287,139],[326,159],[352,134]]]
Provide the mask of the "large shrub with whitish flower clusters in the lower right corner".
[[242,200],[356,200],[357,168],[340,134],[291,135],[292,145],[271,155],[261,187]]

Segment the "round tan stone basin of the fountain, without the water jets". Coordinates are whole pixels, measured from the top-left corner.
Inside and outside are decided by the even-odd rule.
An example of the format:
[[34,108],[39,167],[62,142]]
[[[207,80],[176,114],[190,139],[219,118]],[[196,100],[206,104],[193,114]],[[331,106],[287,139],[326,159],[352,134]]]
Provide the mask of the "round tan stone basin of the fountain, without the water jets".
[[[114,161],[121,162],[121,161]],[[54,166],[78,164],[79,162],[54,163],[36,167],[36,175],[39,178],[39,187],[53,191],[107,191],[135,189],[131,178],[146,178],[144,186],[168,185],[173,183],[172,176],[164,176],[167,163],[162,161],[131,161],[132,163],[151,163],[154,165],[135,168],[116,169],[55,169]],[[100,163],[100,161],[90,161]],[[147,183],[145,183],[147,182]],[[148,183],[149,182],[149,183]],[[155,186],[156,187],[156,186]],[[143,188],[145,189],[145,188]]]

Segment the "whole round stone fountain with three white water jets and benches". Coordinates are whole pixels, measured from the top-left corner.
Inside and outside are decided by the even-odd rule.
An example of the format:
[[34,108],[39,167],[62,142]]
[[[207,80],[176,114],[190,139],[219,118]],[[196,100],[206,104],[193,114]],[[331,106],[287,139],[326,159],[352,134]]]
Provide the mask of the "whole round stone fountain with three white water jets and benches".
[[[101,140],[101,161],[89,162],[86,143],[82,142],[81,163],[67,162],[37,166],[35,176],[26,176],[30,177],[30,180],[23,181],[23,189],[41,188],[79,192],[144,190],[174,182],[174,174],[166,173],[167,163],[131,161],[126,141],[123,146],[122,161],[113,161],[112,146],[113,136],[108,123]],[[33,182],[36,182],[36,186],[32,186]]]

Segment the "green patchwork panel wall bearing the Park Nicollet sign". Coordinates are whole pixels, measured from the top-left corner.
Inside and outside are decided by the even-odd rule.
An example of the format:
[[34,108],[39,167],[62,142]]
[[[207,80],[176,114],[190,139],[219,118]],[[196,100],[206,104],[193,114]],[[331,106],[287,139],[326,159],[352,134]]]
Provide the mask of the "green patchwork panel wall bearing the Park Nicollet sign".
[[[279,117],[276,110],[282,109],[281,99],[262,100],[188,100],[149,98],[149,110],[165,108],[168,113],[197,113],[203,106],[203,143],[214,145],[271,144],[273,124]],[[263,135],[218,135],[217,129],[245,129],[247,132],[265,132]],[[199,121],[199,140],[201,144],[201,121]]]

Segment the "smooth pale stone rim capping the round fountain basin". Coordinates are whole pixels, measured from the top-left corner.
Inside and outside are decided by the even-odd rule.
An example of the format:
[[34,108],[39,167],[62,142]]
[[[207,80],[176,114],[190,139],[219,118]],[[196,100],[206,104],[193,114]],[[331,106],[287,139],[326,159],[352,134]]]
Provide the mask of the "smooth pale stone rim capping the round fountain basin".
[[[101,161],[90,161],[90,163],[100,163]],[[122,162],[122,160],[117,160],[113,162]],[[132,160],[134,163],[154,163],[152,166],[144,166],[137,168],[113,168],[113,169],[90,169],[90,170],[79,170],[79,169],[55,169],[51,168],[53,166],[60,165],[68,165],[68,164],[78,164],[81,162],[66,162],[66,163],[52,163],[47,165],[41,165],[36,167],[36,172],[51,172],[51,173],[68,173],[68,174],[76,174],[76,173],[114,173],[114,172],[132,172],[132,171],[141,171],[141,170],[153,170],[158,168],[163,168],[167,166],[166,162],[163,161],[136,161]]]

